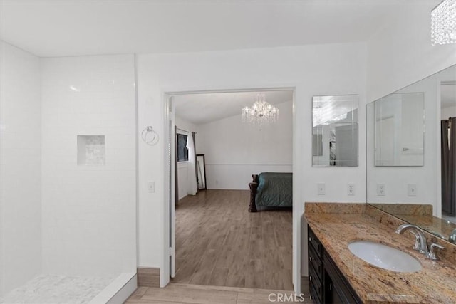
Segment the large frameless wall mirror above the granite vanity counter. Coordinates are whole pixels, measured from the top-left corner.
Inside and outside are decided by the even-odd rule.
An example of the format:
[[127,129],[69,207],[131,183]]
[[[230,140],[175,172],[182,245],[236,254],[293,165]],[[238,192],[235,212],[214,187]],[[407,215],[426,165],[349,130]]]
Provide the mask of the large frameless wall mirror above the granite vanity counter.
[[366,105],[368,204],[445,240],[456,229],[454,117],[456,65]]

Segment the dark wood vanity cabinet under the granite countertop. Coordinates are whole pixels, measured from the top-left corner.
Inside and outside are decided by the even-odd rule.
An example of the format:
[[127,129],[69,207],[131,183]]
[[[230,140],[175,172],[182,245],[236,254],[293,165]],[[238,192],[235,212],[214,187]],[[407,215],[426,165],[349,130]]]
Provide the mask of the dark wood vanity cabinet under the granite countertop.
[[315,304],[362,303],[356,292],[308,227],[309,293]]

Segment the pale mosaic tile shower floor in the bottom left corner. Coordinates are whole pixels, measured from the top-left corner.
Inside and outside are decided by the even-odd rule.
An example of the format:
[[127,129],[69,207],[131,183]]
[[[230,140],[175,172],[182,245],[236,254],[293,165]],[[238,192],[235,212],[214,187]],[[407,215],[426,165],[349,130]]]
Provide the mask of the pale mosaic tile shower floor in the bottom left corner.
[[0,303],[89,303],[114,278],[42,275],[0,299]]

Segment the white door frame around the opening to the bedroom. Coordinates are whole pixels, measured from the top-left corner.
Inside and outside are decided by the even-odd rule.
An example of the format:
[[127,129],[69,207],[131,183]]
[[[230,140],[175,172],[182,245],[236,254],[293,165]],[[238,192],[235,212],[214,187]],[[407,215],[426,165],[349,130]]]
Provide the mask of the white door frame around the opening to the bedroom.
[[[297,166],[297,135],[299,132],[296,130],[296,88],[297,84],[293,85],[268,85],[268,86],[255,86],[252,85],[246,88],[225,88],[225,89],[199,89],[199,90],[185,90],[185,89],[175,89],[175,90],[162,90],[162,109],[163,109],[163,130],[164,130],[164,138],[163,138],[163,159],[164,159],[164,183],[163,183],[163,193],[164,193],[164,200],[163,200],[163,226],[162,226],[162,236],[163,236],[163,259],[162,265],[160,267],[160,287],[165,287],[170,282],[170,275],[172,271],[170,268],[172,265],[175,265],[174,262],[170,262],[170,258],[174,258],[175,260],[175,223],[174,220],[170,220],[170,214],[174,216],[175,212],[175,195],[174,195],[174,183],[170,184],[170,181],[174,181],[175,179],[175,171],[173,169],[174,163],[174,153],[171,152],[172,157],[169,158],[168,154],[168,144],[170,142],[170,134],[169,130],[172,128],[174,130],[175,127],[175,117],[174,117],[174,106],[172,106],[172,113],[170,111],[170,98],[174,95],[190,95],[190,94],[201,94],[201,93],[239,93],[239,92],[264,92],[264,91],[271,91],[271,90],[291,90],[293,92],[293,100],[292,100],[292,129],[293,129],[293,157],[292,157],[292,172],[293,172],[293,189],[299,189],[299,180],[300,177],[298,176],[299,168]],[[171,115],[170,115],[171,114]],[[169,123],[170,119],[172,120],[171,124]],[[171,163],[170,163],[171,162]],[[171,169],[170,169],[171,166]],[[171,174],[171,176],[170,176]],[[170,196],[171,195],[171,196]],[[293,258],[292,258],[292,281],[294,285],[294,293],[300,294],[301,293],[301,208],[299,207],[299,200],[300,200],[300,192],[293,191]],[[246,205],[247,206],[247,205]],[[247,209],[246,209],[247,210]],[[170,222],[171,221],[171,222]],[[172,233],[170,232],[172,231]],[[172,247],[170,248],[170,243]],[[171,267],[170,267],[171,265]]]

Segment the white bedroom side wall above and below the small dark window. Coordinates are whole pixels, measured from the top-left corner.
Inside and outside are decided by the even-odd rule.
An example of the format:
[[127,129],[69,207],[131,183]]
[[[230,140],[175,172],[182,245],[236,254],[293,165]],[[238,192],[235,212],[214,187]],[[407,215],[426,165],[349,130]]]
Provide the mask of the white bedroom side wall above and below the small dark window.
[[[197,132],[197,126],[178,116],[178,113],[175,115],[175,125],[178,129],[177,133],[184,135],[192,136],[192,132]],[[188,131],[183,132],[182,130]],[[195,135],[199,137],[199,134]],[[195,140],[197,141],[197,140]],[[198,152],[197,152],[198,153]],[[188,162],[178,162],[177,163],[177,187],[179,199],[184,198],[187,194],[190,193],[190,183],[189,178],[190,174],[195,176],[195,170],[190,170]]]

